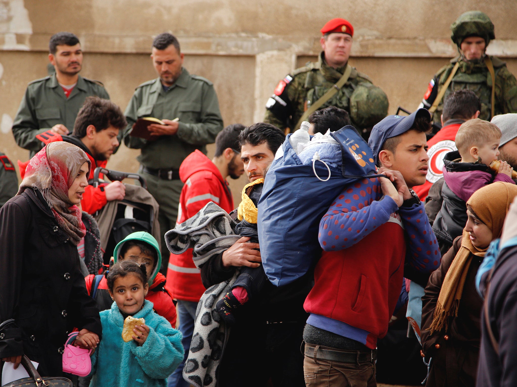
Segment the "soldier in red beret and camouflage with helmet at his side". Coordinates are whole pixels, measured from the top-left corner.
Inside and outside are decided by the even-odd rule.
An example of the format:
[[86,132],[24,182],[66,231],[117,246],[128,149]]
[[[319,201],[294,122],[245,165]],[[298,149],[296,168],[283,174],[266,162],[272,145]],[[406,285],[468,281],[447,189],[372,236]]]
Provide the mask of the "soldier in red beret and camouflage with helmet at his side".
[[296,69],[280,81],[266,103],[264,122],[294,132],[318,109],[336,106],[368,139],[373,125],[388,114],[388,97],[365,74],[348,65],[354,27],[332,19],[321,29],[323,51],[317,62]]

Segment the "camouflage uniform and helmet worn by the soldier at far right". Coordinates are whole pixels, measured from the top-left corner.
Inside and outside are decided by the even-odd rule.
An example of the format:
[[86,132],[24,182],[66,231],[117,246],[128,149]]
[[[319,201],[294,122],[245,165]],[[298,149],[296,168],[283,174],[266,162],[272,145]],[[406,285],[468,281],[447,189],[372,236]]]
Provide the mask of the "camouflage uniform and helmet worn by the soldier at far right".
[[[452,26],[451,39],[460,47],[461,42],[469,36],[479,36],[485,39],[486,45],[494,39],[494,25],[484,13],[469,11],[463,13]],[[495,103],[494,115],[517,112],[517,81],[507,69],[506,63],[495,56],[490,56],[495,72]],[[438,104],[433,121],[440,122],[444,101],[449,94],[460,89],[473,90],[481,101],[479,118],[490,121],[492,119],[492,77],[485,65],[484,57],[478,60],[466,60],[458,56],[450,61],[449,65],[441,68],[431,79],[427,92],[424,94],[421,107],[429,109],[436,99],[436,95],[449,77],[454,65],[459,62],[460,67],[453,76],[442,101]]]

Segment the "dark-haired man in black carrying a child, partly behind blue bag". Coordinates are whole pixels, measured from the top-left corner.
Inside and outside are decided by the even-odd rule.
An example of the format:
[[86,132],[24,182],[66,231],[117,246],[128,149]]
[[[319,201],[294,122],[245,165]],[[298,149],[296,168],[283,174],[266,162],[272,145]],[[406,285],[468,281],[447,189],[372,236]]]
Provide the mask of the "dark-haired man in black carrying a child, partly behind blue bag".
[[[264,177],[284,138],[282,131],[266,123],[241,132],[241,158],[250,182]],[[240,238],[202,267],[205,287],[231,278],[236,267],[259,266],[260,251],[255,250],[259,246],[248,240]],[[312,287],[312,278],[309,272],[281,287],[267,282],[260,298],[234,312],[236,324],[224,349],[219,385],[265,386],[271,379],[275,386],[305,386],[300,345],[308,317],[303,301]]]

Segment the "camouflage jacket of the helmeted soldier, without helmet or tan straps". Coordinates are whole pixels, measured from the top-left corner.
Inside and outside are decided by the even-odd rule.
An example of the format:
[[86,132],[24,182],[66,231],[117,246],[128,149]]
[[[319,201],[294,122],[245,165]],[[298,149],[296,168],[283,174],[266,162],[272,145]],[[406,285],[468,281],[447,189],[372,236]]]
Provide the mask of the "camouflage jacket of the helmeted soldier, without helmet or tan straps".
[[[495,56],[490,56],[495,72],[495,105],[494,115],[517,113],[517,81],[507,69],[506,63]],[[456,90],[473,90],[481,101],[479,118],[490,121],[492,119],[492,77],[484,60],[465,61],[456,57],[447,66],[442,67],[431,79],[427,92],[422,100],[422,107],[430,108],[436,99],[445,81],[449,77],[454,65],[460,62],[460,67],[452,77],[451,83],[445,92],[442,101],[434,111],[433,121],[440,122],[440,116],[447,96]]]

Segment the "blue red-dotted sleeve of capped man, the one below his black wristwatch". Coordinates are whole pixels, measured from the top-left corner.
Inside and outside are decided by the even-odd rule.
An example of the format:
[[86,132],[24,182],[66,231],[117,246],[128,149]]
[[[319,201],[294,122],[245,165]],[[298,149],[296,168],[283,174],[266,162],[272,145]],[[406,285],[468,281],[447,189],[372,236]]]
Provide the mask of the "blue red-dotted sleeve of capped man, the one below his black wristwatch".
[[399,214],[408,236],[406,262],[417,271],[430,273],[440,266],[442,255],[423,202],[401,206]]

